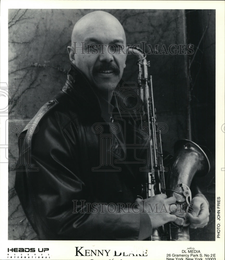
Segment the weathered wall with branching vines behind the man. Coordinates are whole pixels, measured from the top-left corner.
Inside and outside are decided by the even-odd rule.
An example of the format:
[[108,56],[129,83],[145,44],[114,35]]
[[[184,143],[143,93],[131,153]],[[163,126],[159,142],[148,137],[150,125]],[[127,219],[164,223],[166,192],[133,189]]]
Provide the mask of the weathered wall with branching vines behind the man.
[[[63,87],[70,68],[67,46],[70,45],[73,26],[83,15],[91,11],[94,10],[9,10],[9,86],[16,85],[21,91],[18,100],[14,100],[12,104],[12,113],[9,114],[9,129],[14,123],[18,126],[17,129],[11,128],[9,131],[9,144],[17,144],[17,136],[26,123]],[[196,40],[196,56],[193,61],[193,55],[148,55],[151,64],[149,74],[153,75],[157,122],[168,124],[168,132],[162,135],[164,150],[173,153],[175,141],[187,138],[187,107],[188,104],[191,106],[193,141],[207,147],[212,154],[209,158],[211,172],[199,182],[214,212],[215,136],[209,135],[208,132],[213,131],[215,125],[209,124],[208,121],[210,118],[213,122],[213,116],[215,117],[215,111],[212,111],[212,100],[215,96],[215,12],[211,11],[209,14],[208,10],[194,13],[193,10],[133,9],[105,11],[121,22],[127,43],[131,45],[146,41],[151,46],[159,44],[160,50],[163,44],[168,47],[170,44],[187,44]],[[190,17],[191,15],[194,18],[198,17],[198,36],[192,33],[194,18]],[[198,46],[200,40],[201,44]],[[125,81],[137,81],[136,60],[135,56],[128,55],[123,75]],[[208,87],[209,94],[206,93],[206,96],[201,98],[202,95],[199,93],[203,93],[206,63],[207,84],[210,83],[211,88]],[[189,96],[191,88],[193,90]],[[208,113],[208,117],[204,116],[204,119],[201,119],[205,109],[211,109],[211,112]],[[14,114],[18,111],[20,113]],[[200,129],[196,127],[197,122],[201,125]],[[17,156],[17,148],[9,149],[9,159],[16,160]],[[12,167],[16,167],[16,162],[9,163],[8,238],[36,239],[36,234],[25,217],[14,190],[15,171],[10,170]],[[213,212],[210,224],[204,231],[191,231],[192,240],[215,239]]]

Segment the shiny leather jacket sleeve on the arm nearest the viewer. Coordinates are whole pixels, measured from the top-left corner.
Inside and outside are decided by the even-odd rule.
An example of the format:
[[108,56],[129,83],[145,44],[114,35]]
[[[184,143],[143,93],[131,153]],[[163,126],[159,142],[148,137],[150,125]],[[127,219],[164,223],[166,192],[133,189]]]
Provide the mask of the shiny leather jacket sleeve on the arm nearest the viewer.
[[[24,208],[29,208],[25,212],[29,220],[34,219],[32,224],[38,236],[51,240],[149,237],[151,221],[147,213],[93,203],[96,199],[83,180],[78,155],[76,136],[63,131],[54,113],[39,123],[31,143],[31,164],[38,167],[38,172],[23,174],[30,204],[22,203]],[[19,188],[17,191],[18,195],[22,192]]]

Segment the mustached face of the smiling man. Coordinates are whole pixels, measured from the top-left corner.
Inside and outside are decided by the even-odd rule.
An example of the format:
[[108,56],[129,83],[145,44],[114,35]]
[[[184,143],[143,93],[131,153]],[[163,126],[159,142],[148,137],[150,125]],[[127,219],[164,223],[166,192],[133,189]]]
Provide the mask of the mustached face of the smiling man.
[[89,26],[81,26],[83,29],[76,35],[76,42],[72,45],[76,67],[100,91],[117,84],[125,68],[126,54],[123,52],[126,52],[126,39],[120,26],[114,22],[93,22]]

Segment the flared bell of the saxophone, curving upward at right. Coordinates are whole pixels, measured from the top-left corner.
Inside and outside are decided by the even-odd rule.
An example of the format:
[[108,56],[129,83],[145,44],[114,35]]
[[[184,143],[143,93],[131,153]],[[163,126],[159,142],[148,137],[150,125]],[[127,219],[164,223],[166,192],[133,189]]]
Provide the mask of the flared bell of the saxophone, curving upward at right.
[[190,140],[178,140],[174,145],[174,152],[166,191],[168,197],[176,198],[178,212],[175,215],[178,218],[174,224],[185,227],[189,225],[187,213],[191,209],[191,181],[195,175],[206,175],[210,164],[204,151]]

